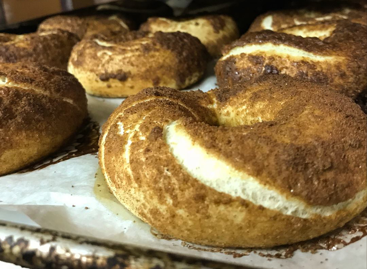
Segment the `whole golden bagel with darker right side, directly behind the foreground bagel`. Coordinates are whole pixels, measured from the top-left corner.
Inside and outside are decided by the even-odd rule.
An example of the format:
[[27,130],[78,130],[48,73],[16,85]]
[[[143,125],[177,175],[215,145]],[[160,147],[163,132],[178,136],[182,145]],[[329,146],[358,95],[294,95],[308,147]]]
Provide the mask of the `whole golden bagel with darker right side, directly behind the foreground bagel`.
[[126,97],[151,86],[183,89],[203,75],[208,55],[187,33],[95,35],[74,47],[68,71],[87,93]]

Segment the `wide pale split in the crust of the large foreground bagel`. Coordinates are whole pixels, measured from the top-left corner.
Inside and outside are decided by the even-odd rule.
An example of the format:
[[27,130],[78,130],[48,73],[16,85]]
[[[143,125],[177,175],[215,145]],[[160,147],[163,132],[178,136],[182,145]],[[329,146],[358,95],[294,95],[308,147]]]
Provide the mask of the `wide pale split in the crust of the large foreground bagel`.
[[[170,151],[182,168],[203,184],[213,189],[228,193],[233,197],[241,197],[264,208],[277,210],[282,214],[299,218],[310,218],[313,214],[330,216],[350,204],[362,201],[366,190],[356,194],[354,198],[332,206],[308,206],[305,202],[282,196],[274,189],[269,189],[254,177],[237,171],[229,163],[221,161],[195,143],[185,128],[178,122],[166,125],[165,137]],[[190,158],[187,158],[190,156]]]

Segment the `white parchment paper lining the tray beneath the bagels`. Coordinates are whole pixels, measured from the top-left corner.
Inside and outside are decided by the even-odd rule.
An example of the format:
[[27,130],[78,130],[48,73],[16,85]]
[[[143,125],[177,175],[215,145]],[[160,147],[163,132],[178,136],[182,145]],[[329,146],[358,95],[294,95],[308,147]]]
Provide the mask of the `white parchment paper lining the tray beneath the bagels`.
[[[214,62],[208,65],[205,78],[192,89],[208,91],[216,86],[213,67]],[[121,101],[88,96],[91,121],[102,126]],[[255,268],[367,268],[366,236],[335,251],[296,250],[290,258],[274,258],[279,249],[209,248],[160,235],[109,193],[96,154],[65,158],[79,155],[78,143],[70,146],[68,153],[53,156],[42,169],[33,166],[36,170],[0,177],[0,219]],[[345,234],[343,238],[350,240],[358,233]],[[342,246],[335,248],[339,247]]]

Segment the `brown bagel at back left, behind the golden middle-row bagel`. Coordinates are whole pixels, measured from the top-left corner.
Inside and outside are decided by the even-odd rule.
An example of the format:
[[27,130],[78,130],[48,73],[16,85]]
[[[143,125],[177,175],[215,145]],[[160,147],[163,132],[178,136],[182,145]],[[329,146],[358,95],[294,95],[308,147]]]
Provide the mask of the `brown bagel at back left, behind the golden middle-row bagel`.
[[75,33],[80,39],[104,31],[128,31],[133,23],[122,15],[57,15],[45,19],[38,27],[38,32],[55,29]]

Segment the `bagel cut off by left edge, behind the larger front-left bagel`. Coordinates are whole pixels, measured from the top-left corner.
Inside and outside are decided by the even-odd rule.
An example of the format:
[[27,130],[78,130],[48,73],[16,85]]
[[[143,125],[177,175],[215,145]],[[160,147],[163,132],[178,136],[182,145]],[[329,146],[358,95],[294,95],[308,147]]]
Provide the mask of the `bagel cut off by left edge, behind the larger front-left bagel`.
[[61,30],[25,35],[0,33],[0,63],[37,62],[66,69],[78,41],[76,35]]

